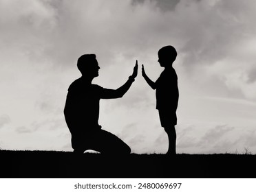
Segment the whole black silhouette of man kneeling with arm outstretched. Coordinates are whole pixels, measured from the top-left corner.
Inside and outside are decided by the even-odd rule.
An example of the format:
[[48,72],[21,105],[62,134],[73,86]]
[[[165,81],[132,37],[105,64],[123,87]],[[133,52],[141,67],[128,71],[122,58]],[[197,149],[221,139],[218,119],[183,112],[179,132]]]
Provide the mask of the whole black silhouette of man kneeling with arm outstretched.
[[82,73],[68,88],[64,109],[65,121],[72,134],[72,148],[83,154],[92,149],[101,154],[130,154],[130,147],[114,134],[101,129],[98,124],[100,99],[122,97],[134,82],[138,72],[138,62],[134,72],[125,84],[116,90],[92,84],[98,76],[96,55],[86,54],[78,58],[77,67]]

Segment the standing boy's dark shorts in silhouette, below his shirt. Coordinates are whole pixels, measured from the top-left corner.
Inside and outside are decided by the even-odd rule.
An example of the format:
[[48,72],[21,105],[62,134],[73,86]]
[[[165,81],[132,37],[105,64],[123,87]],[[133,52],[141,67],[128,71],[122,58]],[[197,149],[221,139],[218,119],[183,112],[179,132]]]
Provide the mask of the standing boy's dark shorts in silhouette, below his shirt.
[[160,123],[163,128],[177,125],[176,112],[171,112],[170,110],[158,110]]

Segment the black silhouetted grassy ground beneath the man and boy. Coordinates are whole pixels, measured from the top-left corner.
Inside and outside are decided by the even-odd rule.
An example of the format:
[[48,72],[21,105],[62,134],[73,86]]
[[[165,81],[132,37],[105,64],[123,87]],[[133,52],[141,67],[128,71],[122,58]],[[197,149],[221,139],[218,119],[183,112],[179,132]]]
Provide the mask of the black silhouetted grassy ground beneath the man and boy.
[[1,178],[256,178],[251,154],[130,154],[0,151]]

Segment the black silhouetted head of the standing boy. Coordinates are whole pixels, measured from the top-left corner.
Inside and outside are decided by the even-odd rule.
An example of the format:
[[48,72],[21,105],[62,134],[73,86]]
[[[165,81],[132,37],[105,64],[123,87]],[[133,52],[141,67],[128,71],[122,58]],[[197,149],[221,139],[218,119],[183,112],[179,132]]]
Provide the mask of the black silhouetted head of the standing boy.
[[162,47],[158,51],[158,62],[160,63],[161,67],[167,67],[168,65],[173,64],[176,57],[177,57],[177,51],[171,45]]

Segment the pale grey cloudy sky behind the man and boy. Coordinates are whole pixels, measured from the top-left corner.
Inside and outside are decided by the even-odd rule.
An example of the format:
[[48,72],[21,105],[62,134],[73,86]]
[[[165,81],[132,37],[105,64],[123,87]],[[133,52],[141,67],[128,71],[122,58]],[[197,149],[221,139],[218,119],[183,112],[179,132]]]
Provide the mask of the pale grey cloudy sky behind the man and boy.
[[158,49],[178,58],[178,153],[256,153],[256,2],[248,0],[0,0],[0,147],[72,151],[63,108],[96,53],[105,88],[140,67],[120,99],[100,101],[100,125],[134,153],[167,152],[152,80]]

